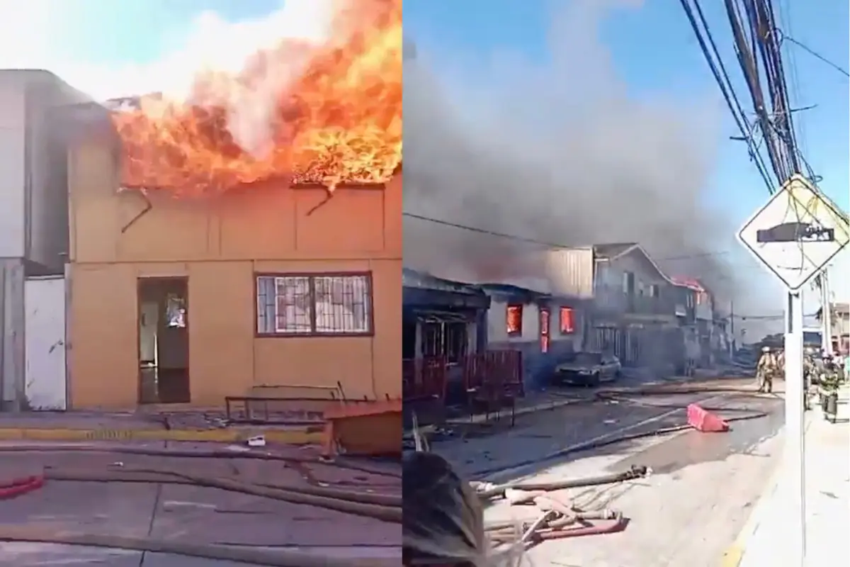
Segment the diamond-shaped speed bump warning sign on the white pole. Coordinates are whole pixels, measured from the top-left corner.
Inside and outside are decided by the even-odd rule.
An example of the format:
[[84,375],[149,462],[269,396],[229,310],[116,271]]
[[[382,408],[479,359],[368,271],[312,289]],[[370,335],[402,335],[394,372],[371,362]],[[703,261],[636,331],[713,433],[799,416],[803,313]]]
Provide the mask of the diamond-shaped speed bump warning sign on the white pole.
[[745,222],[738,240],[795,292],[847,246],[850,227],[846,213],[795,174]]

